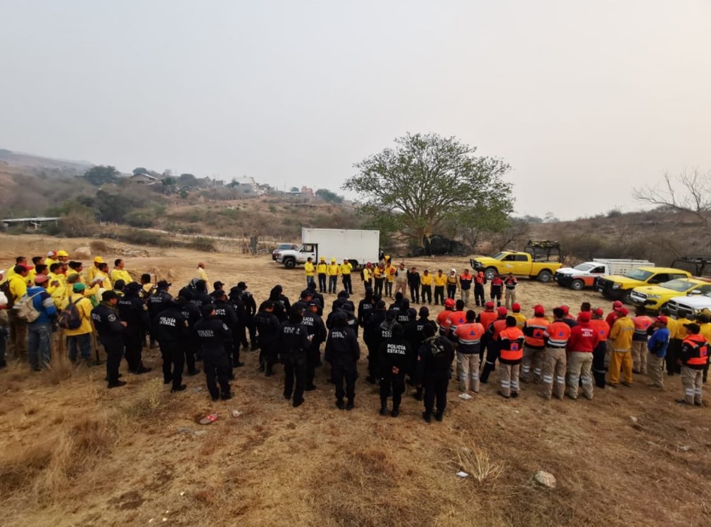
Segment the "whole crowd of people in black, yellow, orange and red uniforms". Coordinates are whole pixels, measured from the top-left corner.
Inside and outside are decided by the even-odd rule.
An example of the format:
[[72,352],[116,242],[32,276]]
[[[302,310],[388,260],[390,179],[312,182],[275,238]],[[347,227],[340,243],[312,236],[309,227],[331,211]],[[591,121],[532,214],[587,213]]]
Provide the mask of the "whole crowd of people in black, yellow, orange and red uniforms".
[[[518,397],[523,383],[540,386],[542,398],[573,400],[581,389],[592,399],[595,386],[631,386],[634,374],[646,374],[651,389],[664,390],[666,369],[669,376],[682,376],[683,398],[677,402],[701,406],[709,367],[708,313],[696,320],[688,313],[677,319],[664,312],[650,317],[643,308],[631,314],[615,302],[606,317],[589,303],[577,315],[565,305],[554,308],[552,316],[542,305],[525,315],[511,275],[494,277],[485,300],[482,273],[465,269],[457,276],[451,269],[445,275],[439,269],[430,275],[426,269],[419,275],[414,266],[395,267],[386,258],[363,268],[365,295],[356,306],[351,263],[321,258],[316,265],[307,262],[306,288],[296,302],[277,285],[257,306],[244,281],[229,289],[216,281],[208,293],[204,263],[173,294],[171,283],[153,283],[149,274],[134,281],[122,259],[110,271],[100,256],[84,270],[82,263],[69,261],[66,251],[31,261],[19,256],[0,278],[0,367],[6,366],[6,337],[9,352],[36,371],[50,366],[53,351],[91,365],[92,347],[98,357],[100,343],[109,389],[126,384],[119,373],[124,358],[132,374],[151,371],[143,364],[144,349],[157,345],[171,391],[185,390],[183,374],[200,373],[196,364],[202,362],[210,397],[227,400],[235,369],[244,366],[240,349],[250,349],[259,350],[265,376],[282,366],[283,396],[294,407],[316,389],[316,371],[325,363],[337,408],[351,410],[360,332],[367,348],[365,380],[380,386],[380,414],[397,417],[409,385],[412,396],[424,401],[427,422],[444,417],[455,369],[462,398],[479,393],[498,369],[503,398]],[[337,293],[331,280],[338,276],[343,289]],[[432,305],[433,284],[434,304],[444,310],[431,320],[427,305]],[[479,313],[468,309],[471,290]],[[501,305],[502,293],[506,305]],[[330,311],[324,294],[336,295]],[[419,310],[412,307],[416,303],[422,304]]]

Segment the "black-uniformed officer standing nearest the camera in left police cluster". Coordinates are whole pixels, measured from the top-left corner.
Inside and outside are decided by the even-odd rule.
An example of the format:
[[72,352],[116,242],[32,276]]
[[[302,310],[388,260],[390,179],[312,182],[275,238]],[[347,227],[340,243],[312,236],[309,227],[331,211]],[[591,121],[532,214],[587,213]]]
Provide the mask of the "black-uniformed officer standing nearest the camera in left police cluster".
[[[215,316],[214,305],[203,305],[201,314],[203,320],[196,323],[195,330],[198,333],[198,339],[200,339],[208,391],[210,391],[213,401],[217,401],[218,398],[227,401],[232,398],[230,360],[225,353],[223,343],[232,338],[232,332],[225,322]],[[215,382],[215,378],[217,382]],[[219,389],[218,382],[220,383]]]

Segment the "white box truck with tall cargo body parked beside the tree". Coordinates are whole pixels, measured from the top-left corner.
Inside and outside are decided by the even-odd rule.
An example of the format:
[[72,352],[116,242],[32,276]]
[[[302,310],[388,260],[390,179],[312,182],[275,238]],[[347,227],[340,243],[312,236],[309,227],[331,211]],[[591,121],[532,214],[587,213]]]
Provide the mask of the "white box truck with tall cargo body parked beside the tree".
[[302,266],[311,256],[314,265],[321,256],[330,262],[332,258],[341,263],[347,259],[353,268],[378,261],[380,231],[358,229],[301,229],[301,246],[295,251],[279,251],[277,263],[287,269]]

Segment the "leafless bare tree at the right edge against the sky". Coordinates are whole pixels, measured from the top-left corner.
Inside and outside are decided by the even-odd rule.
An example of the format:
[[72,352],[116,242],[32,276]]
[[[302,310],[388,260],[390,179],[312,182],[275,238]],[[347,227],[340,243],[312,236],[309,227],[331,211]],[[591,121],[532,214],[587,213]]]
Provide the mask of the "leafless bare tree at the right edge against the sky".
[[674,177],[665,173],[663,185],[636,188],[632,195],[641,202],[694,214],[706,226],[711,222],[711,171],[684,170]]

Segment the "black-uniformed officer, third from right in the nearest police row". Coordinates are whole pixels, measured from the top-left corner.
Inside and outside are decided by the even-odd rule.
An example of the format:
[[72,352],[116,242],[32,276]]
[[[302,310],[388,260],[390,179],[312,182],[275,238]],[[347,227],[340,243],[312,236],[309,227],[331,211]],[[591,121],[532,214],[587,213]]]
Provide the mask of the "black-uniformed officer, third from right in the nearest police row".
[[[358,379],[358,359],[360,347],[355,332],[346,325],[346,313],[336,314],[333,327],[328,331],[326,340],[326,360],[333,366],[333,381],[336,383],[336,406],[340,410],[353,410],[355,401],[355,379]],[[343,381],[346,390],[343,390]],[[348,404],[343,404],[343,396]]]

